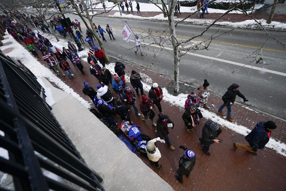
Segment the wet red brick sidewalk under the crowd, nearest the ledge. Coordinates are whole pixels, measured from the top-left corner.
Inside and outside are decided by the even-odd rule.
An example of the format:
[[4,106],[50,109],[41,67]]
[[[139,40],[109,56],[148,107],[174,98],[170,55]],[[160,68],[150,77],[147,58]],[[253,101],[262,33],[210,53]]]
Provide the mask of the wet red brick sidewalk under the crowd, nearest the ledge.
[[[23,43],[21,43],[24,45]],[[41,55],[38,52],[38,55]],[[111,59],[112,60],[112,59]],[[43,65],[45,63],[39,59]],[[114,61],[114,60],[113,60]],[[85,75],[81,74],[75,66],[71,66],[71,70],[75,78],[69,79],[68,77],[60,77],[67,85],[69,85],[76,93],[82,96],[87,101],[90,101],[87,96],[82,93],[83,81],[87,81],[91,87],[96,87],[98,84],[97,79],[88,71],[88,64],[83,62]],[[126,65],[126,73],[138,68]],[[47,68],[47,70],[49,70]],[[161,87],[167,85],[170,80],[160,77],[155,73],[147,71],[146,74],[157,81]],[[147,92],[145,92],[147,94]],[[139,107],[139,100],[137,105]],[[216,112],[217,108],[222,104],[219,97],[211,96],[209,98],[210,110]],[[149,160],[146,156],[138,154],[142,161],[154,170],[161,178],[169,183],[174,190],[189,191],[189,190],[252,190],[252,191],[285,191],[286,188],[286,157],[276,153],[274,150],[265,148],[258,150],[258,155],[254,156],[244,150],[234,150],[232,147],[233,141],[246,143],[244,137],[237,134],[226,127],[222,128],[220,138],[223,139],[222,143],[214,143],[210,147],[210,156],[205,155],[202,151],[202,145],[198,138],[201,136],[201,131],[206,119],[202,119],[200,124],[194,128],[191,133],[185,130],[184,121],[181,115],[184,112],[184,106],[175,107],[169,103],[162,101],[162,109],[164,114],[168,115],[175,123],[175,128],[170,130],[170,142],[175,147],[175,150],[170,150],[166,144],[158,143],[157,146],[161,152],[161,159],[159,164],[164,167],[161,170],[150,167]],[[157,107],[154,107],[155,112],[158,114]],[[135,116],[134,110],[130,110],[131,119],[134,124],[141,126],[142,133],[155,138],[158,135],[155,133],[155,127],[150,124],[150,119],[145,121],[141,117]],[[253,128],[254,124],[259,121],[273,120],[277,124],[277,129],[273,131],[273,137],[285,142],[285,130],[282,130],[282,125],[285,123],[266,115],[247,110],[237,104],[233,106],[232,117],[236,118],[237,124],[244,125],[249,129]],[[245,120],[248,118],[250,121]],[[157,117],[155,118],[157,120]],[[117,119],[118,120],[118,119]],[[119,122],[119,121],[118,121]],[[254,123],[252,123],[254,122]],[[178,169],[178,161],[183,150],[179,149],[179,145],[185,145],[193,150],[196,154],[196,165],[191,172],[189,178],[184,176],[184,183],[181,184],[175,179],[176,170]],[[156,188],[154,190],[160,190]]]

